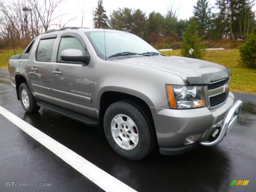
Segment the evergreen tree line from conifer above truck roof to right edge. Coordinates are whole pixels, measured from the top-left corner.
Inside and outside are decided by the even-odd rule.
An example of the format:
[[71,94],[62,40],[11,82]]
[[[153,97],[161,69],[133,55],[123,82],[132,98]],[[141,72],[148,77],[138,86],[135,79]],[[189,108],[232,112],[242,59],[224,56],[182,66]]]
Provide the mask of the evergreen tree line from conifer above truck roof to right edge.
[[174,4],[167,7],[165,15],[153,11],[147,17],[141,9],[124,7],[113,10],[109,18],[106,15],[101,17],[101,13],[105,13],[102,0],[99,0],[98,5],[101,9],[94,12],[94,20],[100,18],[104,26],[97,25],[97,28],[128,31],[148,42],[161,37],[180,41],[191,22],[197,24],[200,38],[243,40],[252,32],[256,23],[255,11],[252,9],[255,0],[216,0],[214,6],[208,0],[198,0],[193,7],[194,15],[186,20],[178,19]]

